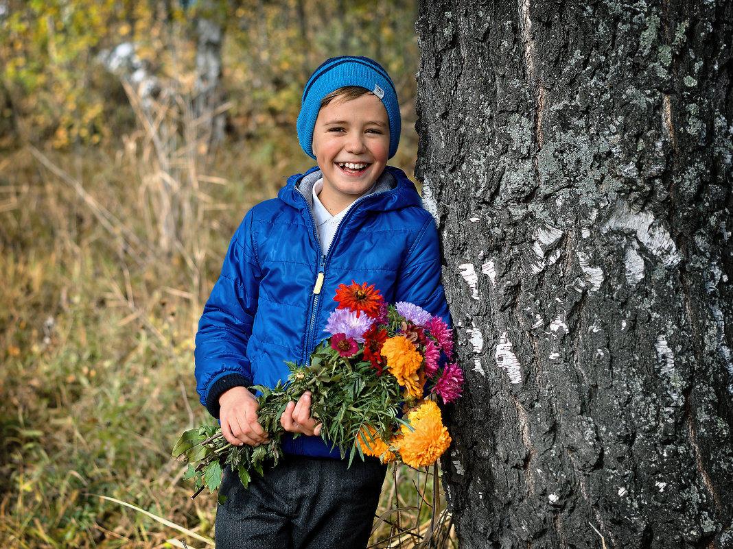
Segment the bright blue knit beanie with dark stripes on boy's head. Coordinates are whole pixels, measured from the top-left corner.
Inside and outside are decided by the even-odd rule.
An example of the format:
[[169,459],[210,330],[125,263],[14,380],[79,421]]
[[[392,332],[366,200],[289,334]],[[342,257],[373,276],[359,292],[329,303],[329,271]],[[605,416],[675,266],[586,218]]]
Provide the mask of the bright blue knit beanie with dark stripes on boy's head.
[[320,103],[323,97],[344,86],[360,86],[375,94],[387,109],[389,118],[389,157],[397,152],[399,131],[402,126],[399,117],[399,103],[394,84],[377,61],[368,57],[332,57],[314,70],[306,83],[298,115],[298,140],[309,157],[313,154],[313,128],[316,125]]

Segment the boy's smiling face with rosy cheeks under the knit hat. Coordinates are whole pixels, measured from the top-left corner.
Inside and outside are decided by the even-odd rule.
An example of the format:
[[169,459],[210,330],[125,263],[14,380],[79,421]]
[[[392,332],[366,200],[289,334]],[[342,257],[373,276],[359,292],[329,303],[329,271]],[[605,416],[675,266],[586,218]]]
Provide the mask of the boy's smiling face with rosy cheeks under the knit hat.
[[318,199],[332,215],[367,193],[384,171],[389,155],[389,119],[372,94],[335,100],[318,112],[313,154],[323,173]]

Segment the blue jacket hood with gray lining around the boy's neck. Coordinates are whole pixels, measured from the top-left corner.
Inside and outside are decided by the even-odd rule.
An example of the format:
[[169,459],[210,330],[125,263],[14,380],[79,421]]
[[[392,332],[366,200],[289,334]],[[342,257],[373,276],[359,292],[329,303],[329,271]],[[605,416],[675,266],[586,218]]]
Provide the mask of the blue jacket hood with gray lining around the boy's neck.
[[[313,185],[322,177],[317,166],[306,173],[290,176],[287,184],[279,190],[278,198],[296,209],[303,209],[307,203],[313,209]],[[305,198],[305,203],[303,203]],[[360,209],[365,212],[389,212],[408,206],[422,206],[420,195],[413,182],[399,168],[387,166],[377,179],[372,193],[358,198]]]

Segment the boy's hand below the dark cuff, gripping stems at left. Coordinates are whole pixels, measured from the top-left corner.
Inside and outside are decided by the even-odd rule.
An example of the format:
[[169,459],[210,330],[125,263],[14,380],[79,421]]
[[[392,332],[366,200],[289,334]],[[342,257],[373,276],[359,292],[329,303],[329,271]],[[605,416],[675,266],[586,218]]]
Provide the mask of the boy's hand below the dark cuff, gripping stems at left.
[[219,397],[219,420],[224,438],[235,446],[259,446],[268,441],[268,433],[257,422],[259,403],[246,387],[232,387]]

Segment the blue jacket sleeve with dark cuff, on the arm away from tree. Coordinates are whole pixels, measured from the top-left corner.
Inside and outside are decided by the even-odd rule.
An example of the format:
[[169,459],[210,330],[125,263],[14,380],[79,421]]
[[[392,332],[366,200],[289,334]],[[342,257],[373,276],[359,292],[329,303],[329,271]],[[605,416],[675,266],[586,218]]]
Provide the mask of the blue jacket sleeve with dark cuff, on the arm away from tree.
[[219,397],[235,386],[251,386],[247,344],[257,313],[262,279],[251,232],[251,211],[229,244],[196,334],[196,391],[209,413],[219,417]]

